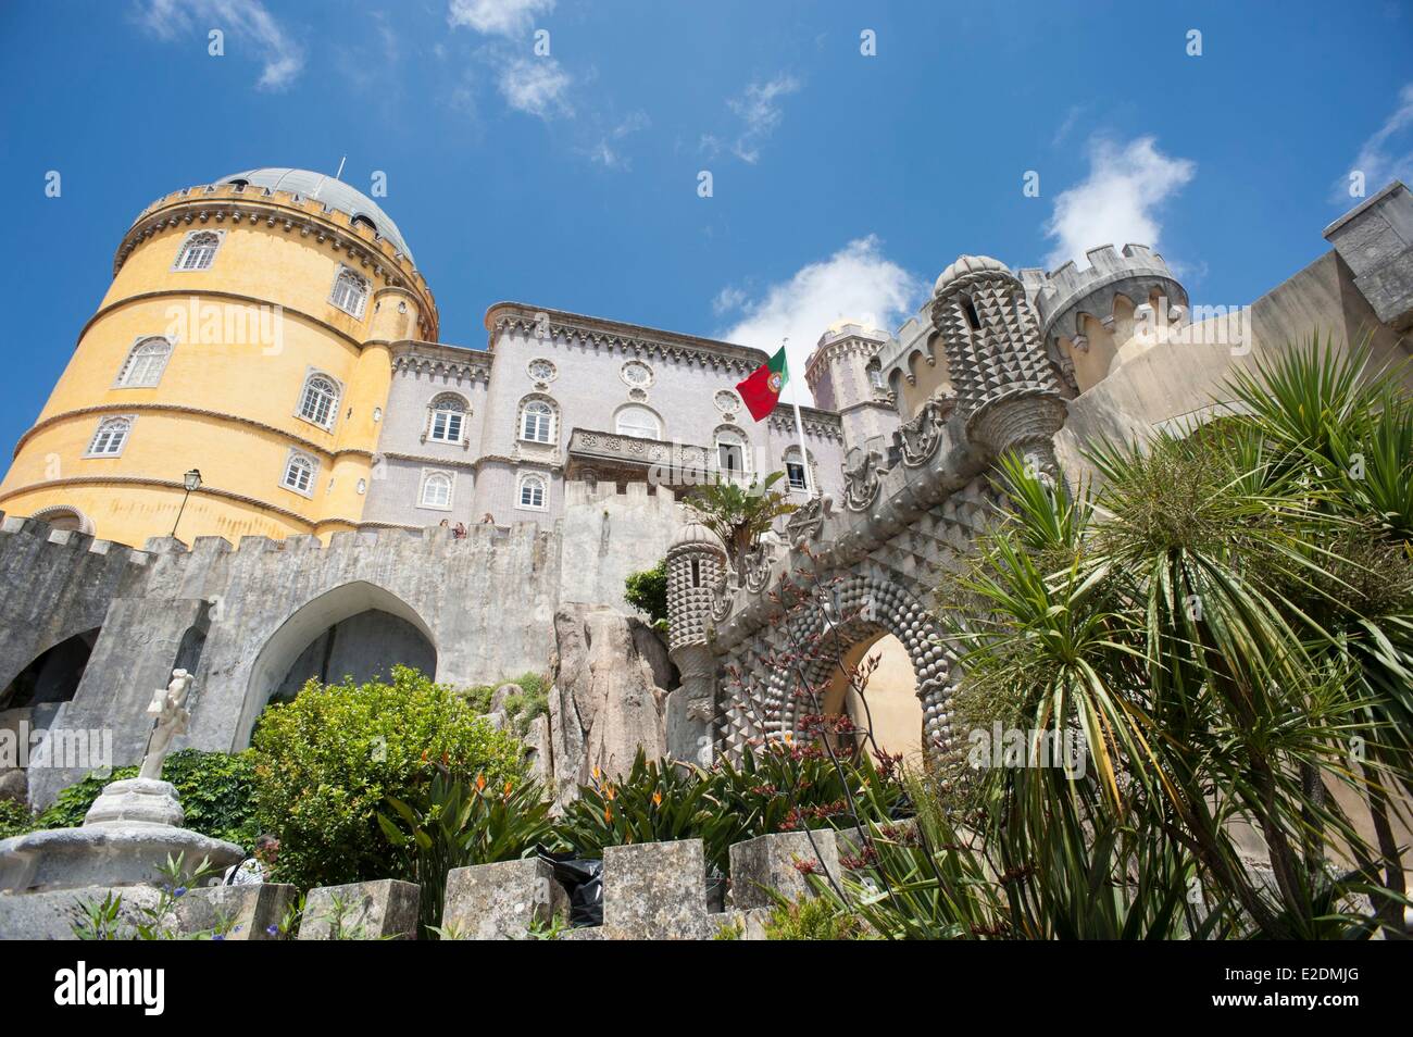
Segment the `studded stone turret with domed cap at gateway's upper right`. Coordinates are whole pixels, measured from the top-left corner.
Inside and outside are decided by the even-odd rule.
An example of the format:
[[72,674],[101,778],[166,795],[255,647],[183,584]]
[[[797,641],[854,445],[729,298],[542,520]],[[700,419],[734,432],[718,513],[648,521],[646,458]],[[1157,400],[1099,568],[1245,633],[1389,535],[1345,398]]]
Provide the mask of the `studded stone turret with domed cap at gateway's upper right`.
[[971,439],[1058,479],[1051,438],[1065,403],[1016,275],[989,256],[962,256],[937,278],[931,312]]

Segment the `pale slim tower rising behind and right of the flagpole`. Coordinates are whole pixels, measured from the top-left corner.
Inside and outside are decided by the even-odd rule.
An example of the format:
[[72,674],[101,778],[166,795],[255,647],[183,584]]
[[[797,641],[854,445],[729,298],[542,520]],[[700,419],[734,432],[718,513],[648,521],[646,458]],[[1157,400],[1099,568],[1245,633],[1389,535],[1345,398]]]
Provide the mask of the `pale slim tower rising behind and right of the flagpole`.
[[805,363],[804,379],[815,407],[839,414],[845,454],[870,441],[879,448],[897,429],[897,411],[889,403],[876,359],[887,339],[887,332],[862,321],[836,321]]

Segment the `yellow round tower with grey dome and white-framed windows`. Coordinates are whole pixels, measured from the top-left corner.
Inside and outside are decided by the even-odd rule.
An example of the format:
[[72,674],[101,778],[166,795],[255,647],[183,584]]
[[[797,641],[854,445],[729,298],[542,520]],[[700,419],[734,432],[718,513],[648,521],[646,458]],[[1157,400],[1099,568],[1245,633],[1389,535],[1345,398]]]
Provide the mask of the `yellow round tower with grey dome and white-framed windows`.
[[167,195],[123,237],[0,510],[137,547],[353,528],[401,339],[435,340],[437,307],[348,184],[266,168]]

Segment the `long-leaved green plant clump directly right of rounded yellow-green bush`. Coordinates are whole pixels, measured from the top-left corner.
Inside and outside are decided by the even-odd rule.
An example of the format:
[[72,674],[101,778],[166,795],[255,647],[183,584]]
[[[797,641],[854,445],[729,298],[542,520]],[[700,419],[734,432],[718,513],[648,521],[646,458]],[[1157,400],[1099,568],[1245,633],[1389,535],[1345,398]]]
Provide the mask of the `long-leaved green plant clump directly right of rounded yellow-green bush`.
[[550,836],[550,804],[537,781],[462,781],[438,767],[430,786],[406,801],[390,795],[387,807],[377,824],[422,887],[422,932],[439,931],[447,872],[516,860]]

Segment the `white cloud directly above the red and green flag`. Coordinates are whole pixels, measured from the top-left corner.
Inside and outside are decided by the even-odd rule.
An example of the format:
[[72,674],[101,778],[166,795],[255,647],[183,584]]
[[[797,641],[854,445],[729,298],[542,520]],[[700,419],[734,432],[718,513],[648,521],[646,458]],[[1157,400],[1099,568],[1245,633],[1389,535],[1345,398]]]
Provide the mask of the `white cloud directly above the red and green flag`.
[[879,250],[875,235],[859,237],[827,260],[801,267],[788,281],[771,285],[759,300],[739,288],[722,288],[712,302],[718,312],[739,311],[740,318],[718,338],[774,352],[788,336],[790,384],[808,403],[804,363],[824,331],[839,318],[892,331],[914,309],[926,283],[913,277]]

